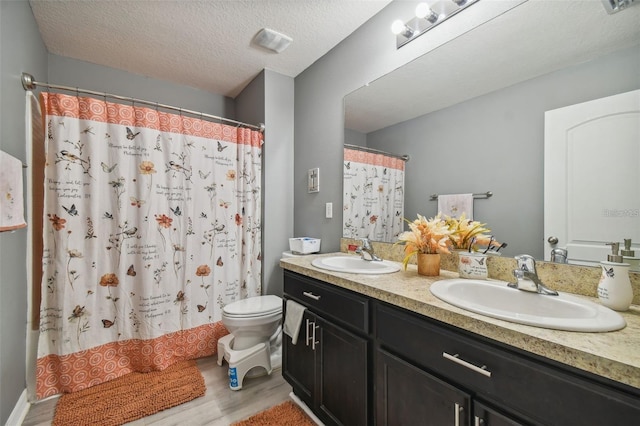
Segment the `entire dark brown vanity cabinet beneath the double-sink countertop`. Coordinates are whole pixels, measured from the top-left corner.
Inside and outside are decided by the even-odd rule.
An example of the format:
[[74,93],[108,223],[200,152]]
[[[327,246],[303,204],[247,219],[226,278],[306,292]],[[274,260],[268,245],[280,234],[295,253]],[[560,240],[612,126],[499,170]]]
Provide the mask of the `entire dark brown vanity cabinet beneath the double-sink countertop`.
[[636,388],[290,271],[284,297],[283,376],[326,424],[640,424]]

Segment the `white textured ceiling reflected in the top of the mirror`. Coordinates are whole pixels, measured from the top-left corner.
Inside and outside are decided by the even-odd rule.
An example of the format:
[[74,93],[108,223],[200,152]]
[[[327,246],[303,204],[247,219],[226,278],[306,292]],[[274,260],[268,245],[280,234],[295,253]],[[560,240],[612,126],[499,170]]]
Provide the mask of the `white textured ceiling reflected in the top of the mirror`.
[[529,0],[348,95],[345,125],[369,133],[634,45],[640,4]]

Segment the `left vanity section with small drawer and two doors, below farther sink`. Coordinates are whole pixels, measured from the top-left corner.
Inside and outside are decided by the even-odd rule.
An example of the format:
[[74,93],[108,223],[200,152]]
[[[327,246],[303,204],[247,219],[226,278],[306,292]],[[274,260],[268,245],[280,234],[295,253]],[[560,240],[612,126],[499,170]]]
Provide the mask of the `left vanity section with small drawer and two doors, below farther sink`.
[[368,299],[289,271],[284,298],[307,309],[296,344],[284,337],[283,377],[324,423],[370,424]]

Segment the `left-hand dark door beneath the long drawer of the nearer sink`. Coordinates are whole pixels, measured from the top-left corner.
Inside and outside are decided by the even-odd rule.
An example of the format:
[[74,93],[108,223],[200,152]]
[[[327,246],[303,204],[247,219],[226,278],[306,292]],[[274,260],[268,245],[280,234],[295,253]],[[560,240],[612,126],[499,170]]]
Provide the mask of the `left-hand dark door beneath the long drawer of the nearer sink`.
[[469,425],[469,394],[378,349],[377,425]]

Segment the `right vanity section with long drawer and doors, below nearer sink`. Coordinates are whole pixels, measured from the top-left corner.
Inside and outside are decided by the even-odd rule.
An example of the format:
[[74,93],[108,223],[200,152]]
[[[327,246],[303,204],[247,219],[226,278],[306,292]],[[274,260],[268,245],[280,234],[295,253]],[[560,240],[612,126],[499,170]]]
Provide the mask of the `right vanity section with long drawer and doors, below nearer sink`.
[[640,419],[637,390],[394,306],[374,309],[378,425],[612,426]]

